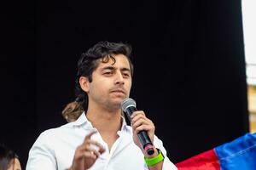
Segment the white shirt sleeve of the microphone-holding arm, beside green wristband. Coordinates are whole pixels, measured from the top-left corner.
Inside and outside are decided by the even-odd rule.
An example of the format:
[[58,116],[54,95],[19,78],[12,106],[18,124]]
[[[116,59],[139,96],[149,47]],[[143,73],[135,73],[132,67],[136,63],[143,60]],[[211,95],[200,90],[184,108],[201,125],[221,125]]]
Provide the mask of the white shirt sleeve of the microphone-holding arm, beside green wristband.
[[[167,157],[166,149],[163,145],[163,142],[160,139],[158,139],[157,136],[154,136],[154,146],[160,149],[162,154],[165,156],[162,170],[177,170],[177,167]],[[146,169],[148,170],[148,168]]]

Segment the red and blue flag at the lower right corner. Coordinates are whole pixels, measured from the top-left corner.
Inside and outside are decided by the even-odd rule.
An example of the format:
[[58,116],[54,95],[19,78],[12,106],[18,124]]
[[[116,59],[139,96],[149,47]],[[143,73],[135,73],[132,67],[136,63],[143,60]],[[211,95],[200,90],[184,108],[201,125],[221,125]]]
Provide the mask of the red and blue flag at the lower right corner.
[[256,133],[246,133],[176,166],[179,170],[256,170]]

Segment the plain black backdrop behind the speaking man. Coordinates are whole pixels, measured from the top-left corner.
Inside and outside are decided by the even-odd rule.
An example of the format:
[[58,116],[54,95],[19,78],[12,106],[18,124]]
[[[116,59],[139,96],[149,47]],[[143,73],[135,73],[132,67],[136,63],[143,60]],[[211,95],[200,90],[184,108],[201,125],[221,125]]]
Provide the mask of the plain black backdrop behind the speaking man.
[[39,133],[66,123],[79,55],[128,42],[131,98],[173,162],[248,132],[241,1],[52,1],[11,4],[4,24],[1,140],[23,168]]

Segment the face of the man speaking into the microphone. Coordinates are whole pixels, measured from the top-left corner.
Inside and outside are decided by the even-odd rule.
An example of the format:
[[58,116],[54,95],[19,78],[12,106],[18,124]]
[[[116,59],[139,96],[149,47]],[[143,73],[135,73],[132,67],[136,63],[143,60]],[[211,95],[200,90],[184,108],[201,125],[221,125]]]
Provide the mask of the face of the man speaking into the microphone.
[[92,82],[88,82],[90,102],[105,106],[110,110],[120,108],[123,99],[129,97],[131,90],[131,68],[123,54],[113,54],[107,63],[99,60],[99,65],[92,73]]

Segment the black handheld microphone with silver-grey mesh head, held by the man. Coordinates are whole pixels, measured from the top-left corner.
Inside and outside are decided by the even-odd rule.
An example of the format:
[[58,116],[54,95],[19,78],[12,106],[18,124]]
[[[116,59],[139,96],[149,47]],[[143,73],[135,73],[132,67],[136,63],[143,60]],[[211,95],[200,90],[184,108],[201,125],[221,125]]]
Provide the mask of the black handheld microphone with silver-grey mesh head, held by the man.
[[[129,121],[131,122],[131,115],[136,109],[136,102],[134,99],[126,98],[122,102],[122,110],[125,112],[126,116],[128,117]],[[154,147],[151,140],[148,137],[148,133],[146,131],[140,131],[137,133],[137,136],[143,144],[143,150],[146,150],[149,156],[154,154]]]

